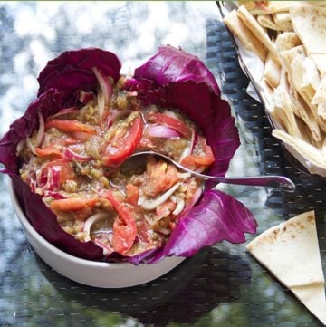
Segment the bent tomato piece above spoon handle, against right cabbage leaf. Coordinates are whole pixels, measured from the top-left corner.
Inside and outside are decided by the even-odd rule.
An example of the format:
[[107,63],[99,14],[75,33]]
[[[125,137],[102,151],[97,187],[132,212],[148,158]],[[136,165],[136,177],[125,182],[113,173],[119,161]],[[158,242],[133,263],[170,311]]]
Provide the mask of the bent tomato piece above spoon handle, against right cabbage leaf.
[[181,165],[187,168],[198,168],[201,166],[209,166],[214,162],[214,154],[209,145],[206,144],[206,139],[198,137],[198,146],[200,154],[191,154],[181,160]]

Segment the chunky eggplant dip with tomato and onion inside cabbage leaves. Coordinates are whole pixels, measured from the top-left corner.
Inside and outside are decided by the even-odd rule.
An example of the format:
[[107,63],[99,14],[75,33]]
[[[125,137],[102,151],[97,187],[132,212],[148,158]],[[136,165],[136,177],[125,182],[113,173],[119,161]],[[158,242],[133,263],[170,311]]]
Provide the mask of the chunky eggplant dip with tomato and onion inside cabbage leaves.
[[181,111],[143,106],[125,77],[112,85],[93,72],[98,91],[81,91],[80,107],[45,121],[38,114],[38,130],[17,146],[20,176],[66,233],[94,242],[105,255],[138,255],[166,244],[200,196],[202,181],[162,159],[129,156],[154,150],[200,172],[214,155]]

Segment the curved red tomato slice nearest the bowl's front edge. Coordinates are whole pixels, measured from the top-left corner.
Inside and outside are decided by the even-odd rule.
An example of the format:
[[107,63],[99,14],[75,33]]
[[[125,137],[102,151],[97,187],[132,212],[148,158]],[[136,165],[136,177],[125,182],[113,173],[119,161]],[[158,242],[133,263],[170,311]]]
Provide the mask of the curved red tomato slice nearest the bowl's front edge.
[[105,193],[105,197],[108,198],[119,216],[113,223],[112,245],[120,255],[126,255],[136,239],[136,219],[132,215],[131,209],[114,197],[110,190]]

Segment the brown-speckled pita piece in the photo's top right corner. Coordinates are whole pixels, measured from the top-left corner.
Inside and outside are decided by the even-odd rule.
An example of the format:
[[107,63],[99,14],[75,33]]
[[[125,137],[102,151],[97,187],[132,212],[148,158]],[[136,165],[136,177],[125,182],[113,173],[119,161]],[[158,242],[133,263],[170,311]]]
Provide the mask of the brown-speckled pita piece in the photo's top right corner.
[[290,9],[294,32],[308,54],[326,54],[326,8],[294,5]]

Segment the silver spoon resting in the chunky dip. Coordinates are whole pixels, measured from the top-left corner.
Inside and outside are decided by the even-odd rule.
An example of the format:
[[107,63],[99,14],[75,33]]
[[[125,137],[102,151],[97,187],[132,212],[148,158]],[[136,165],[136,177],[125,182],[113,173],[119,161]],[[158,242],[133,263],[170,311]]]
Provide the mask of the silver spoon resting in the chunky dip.
[[[166,159],[175,165],[177,168],[190,173],[191,175],[197,178],[203,179],[211,179],[215,180],[219,183],[225,184],[237,184],[237,185],[248,185],[254,187],[264,187],[264,188],[276,188],[281,189],[286,192],[294,192],[295,184],[292,182],[291,179],[285,178],[283,176],[275,176],[275,175],[265,175],[265,176],[253,176],[253,177],[245,177],[245,178],[223,178],[223,177],[216,177],[216,176],[209,176],[205,174],[197,173],[191,169],[188,169],[182,165],[180,165],[177,161],[169,158],[168,156],[154,152],[154,151],[142,151],[133,153],[129,158],[141,157],[141,156],[155,156],[161,159]],[[129,159],[128,158],[128,159]],[[127,159],[127,160],[128,160]]]

